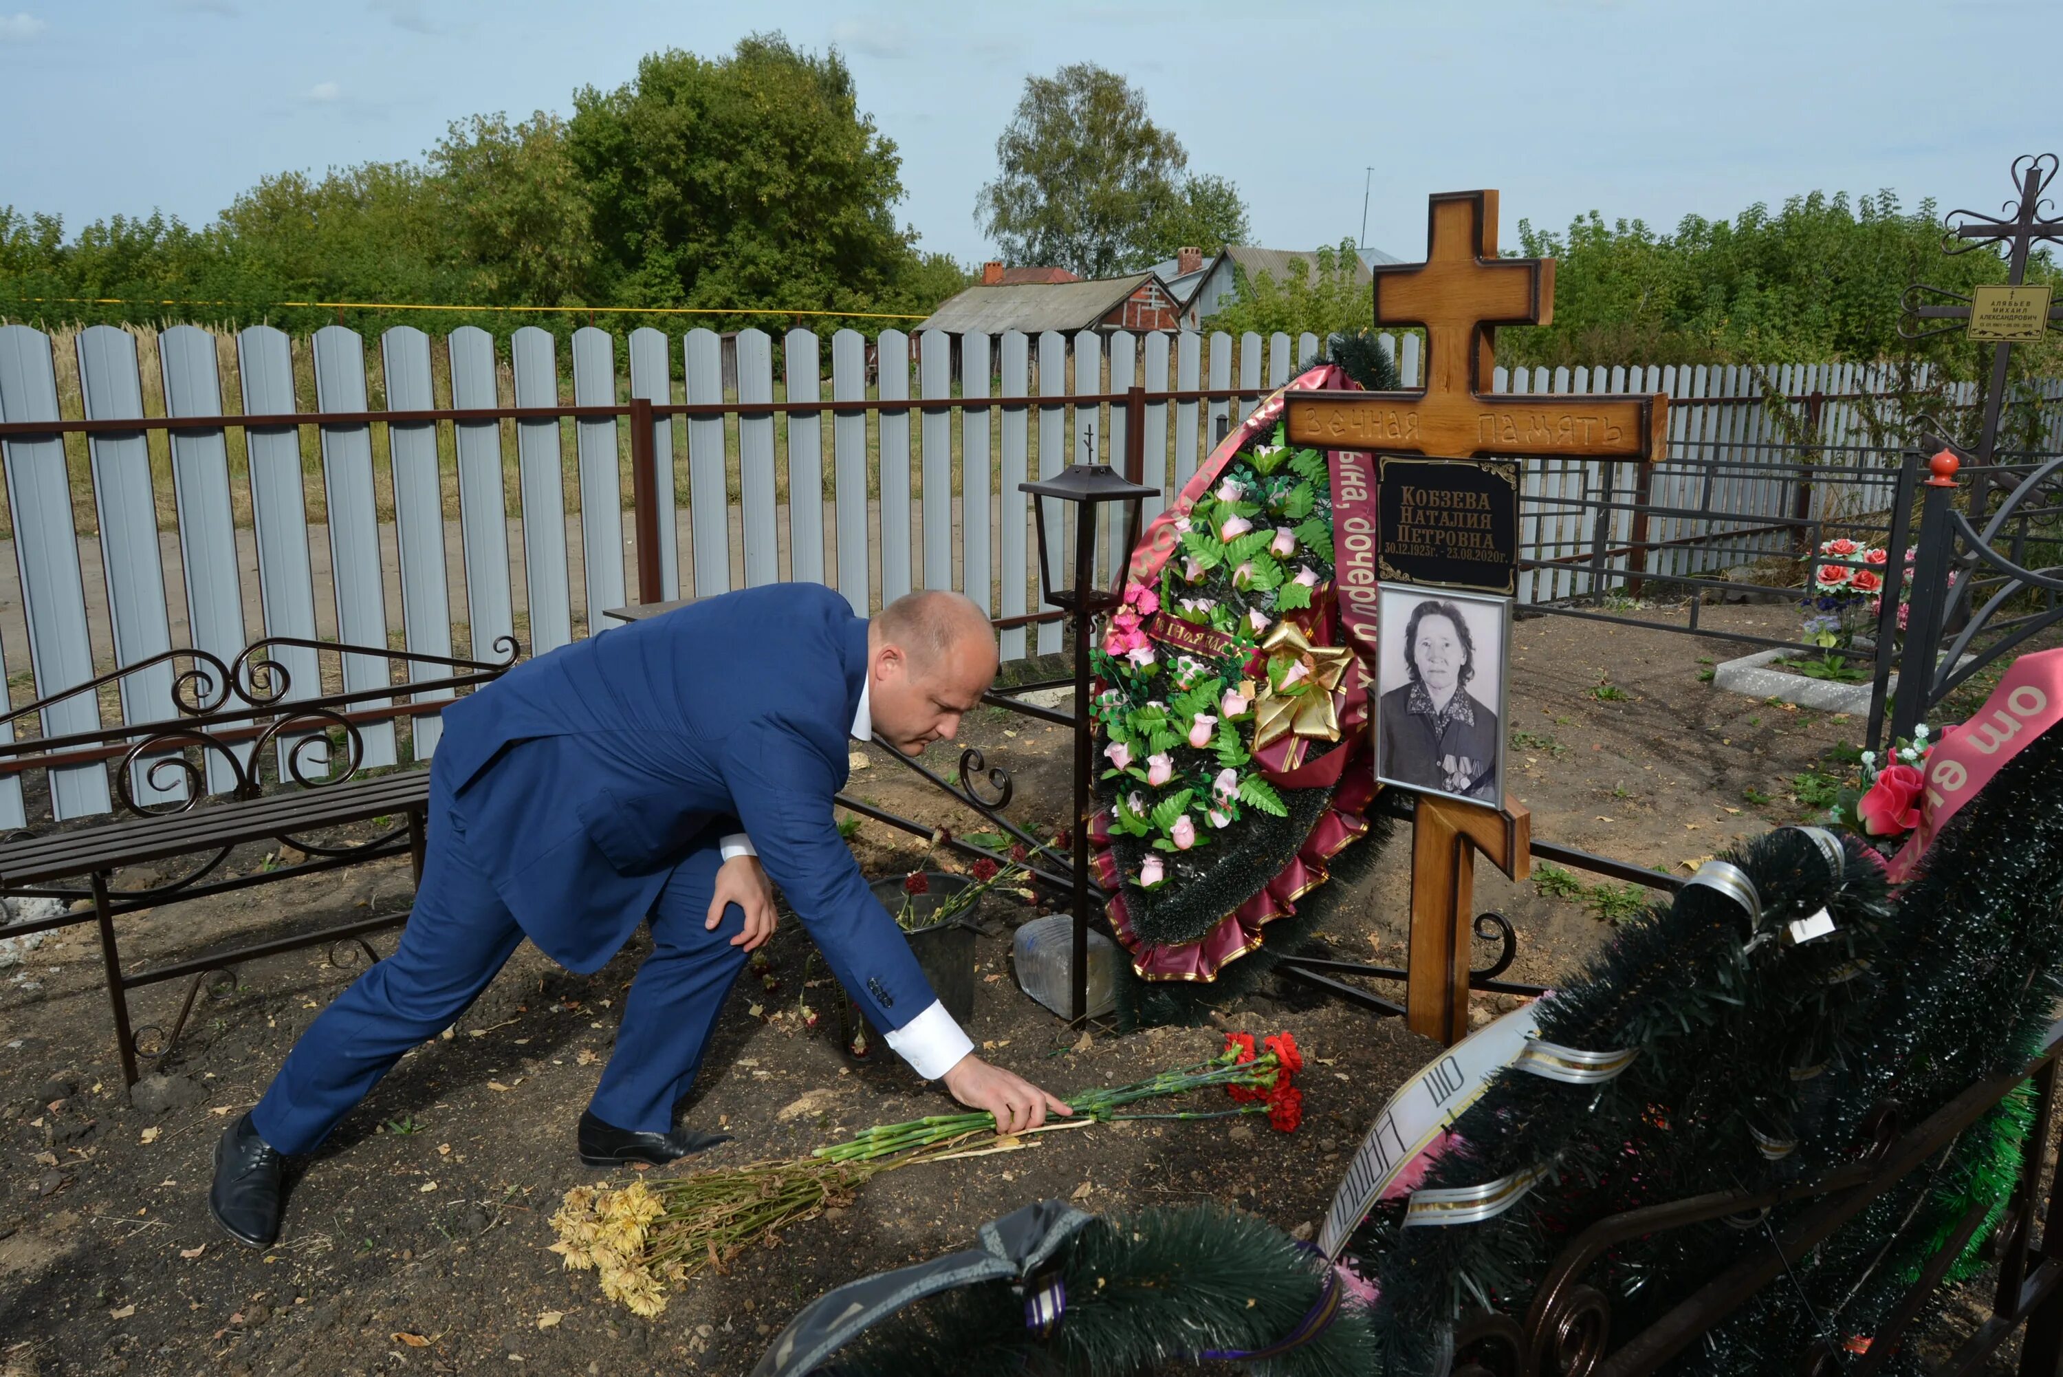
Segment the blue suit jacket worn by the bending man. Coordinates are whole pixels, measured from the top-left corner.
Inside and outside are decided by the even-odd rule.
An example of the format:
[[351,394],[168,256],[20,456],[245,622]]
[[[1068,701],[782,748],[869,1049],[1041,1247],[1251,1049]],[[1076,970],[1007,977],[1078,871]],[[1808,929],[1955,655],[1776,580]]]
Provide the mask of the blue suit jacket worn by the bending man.
[[526,661],[444,710],[435,766],[524,933],[596,970],[697,844],[747,832],[877,1028],[932,1003],[838,834],[866,621],[817,584],[730,593]]

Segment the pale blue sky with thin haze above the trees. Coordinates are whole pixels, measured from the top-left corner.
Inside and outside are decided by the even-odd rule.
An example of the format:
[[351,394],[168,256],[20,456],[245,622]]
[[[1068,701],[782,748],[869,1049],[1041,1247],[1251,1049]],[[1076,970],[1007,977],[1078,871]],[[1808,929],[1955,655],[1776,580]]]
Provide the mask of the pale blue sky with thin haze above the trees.
[[569,111],[648,52],[780,29],[846,56],[904,157],[899,219],[963,262],[992,254],[974,202],[1025,76],[1081,60],[1131,78],[1192,171],[1232,178],[1269,248],[1362,237],[1364,188],[1364,244],[1405,260],[1426,196],[1473,188],[1500,190],[1504,248],[1520,219],[1673,227],[1815,188],[1997,213],[2013,157],[2063,142],[2053,19],[2053,0],[0,0],[0,204],[198,225],[266,173],[419,157],[452,120]]

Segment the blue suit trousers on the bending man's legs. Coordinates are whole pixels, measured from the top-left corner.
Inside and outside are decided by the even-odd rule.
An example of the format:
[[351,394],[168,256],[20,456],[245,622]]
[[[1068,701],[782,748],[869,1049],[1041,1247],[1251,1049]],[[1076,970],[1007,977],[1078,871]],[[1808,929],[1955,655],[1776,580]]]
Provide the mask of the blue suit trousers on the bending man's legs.
[[[295,1043],[252,1125],[279,1152],[309,1152],[400,1057],[450,1028],[522,943],[522,927],[472,861],[464,822],[431,766],[429,836],[415,908],[394,956],[365,970]],[[590,1109],[619,1129],[664,1133],[701,1067],[710,1030],[745,966],[730,904],[708,931],[720,834],[712,828],[673,869],[648,917],[640,966]]]

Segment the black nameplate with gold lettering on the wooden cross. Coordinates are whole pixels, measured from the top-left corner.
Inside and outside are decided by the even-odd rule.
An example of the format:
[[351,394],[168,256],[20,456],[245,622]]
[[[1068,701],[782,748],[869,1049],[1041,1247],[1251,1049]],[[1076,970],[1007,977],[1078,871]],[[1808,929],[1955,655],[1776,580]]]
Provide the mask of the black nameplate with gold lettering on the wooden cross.
[[1518,460],[1376,460],[1384,582],[1518,593]]

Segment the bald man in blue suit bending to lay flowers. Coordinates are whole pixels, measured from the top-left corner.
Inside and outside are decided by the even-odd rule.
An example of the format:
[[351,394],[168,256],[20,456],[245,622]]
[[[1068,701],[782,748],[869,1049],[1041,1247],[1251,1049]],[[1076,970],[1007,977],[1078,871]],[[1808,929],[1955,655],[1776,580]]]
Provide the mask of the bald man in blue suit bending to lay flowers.
[[957,733],[994,673],[988,619],[959,595],[914,593],[866,621],[827,588],[772,584],[574,642],[446,708],[400,946],[223,1135],[217,1222],[268,1247],[285,1158],[450,1028],[524,937],[590,972],[652,925],[580,1158],[668,1162],[724,1142],[673,1113],[745,954],[774,931],[769,879],[918,1076],[1005,1133],[1069,1113],[974,1055],[831,815],[848,735],[916,756]]

